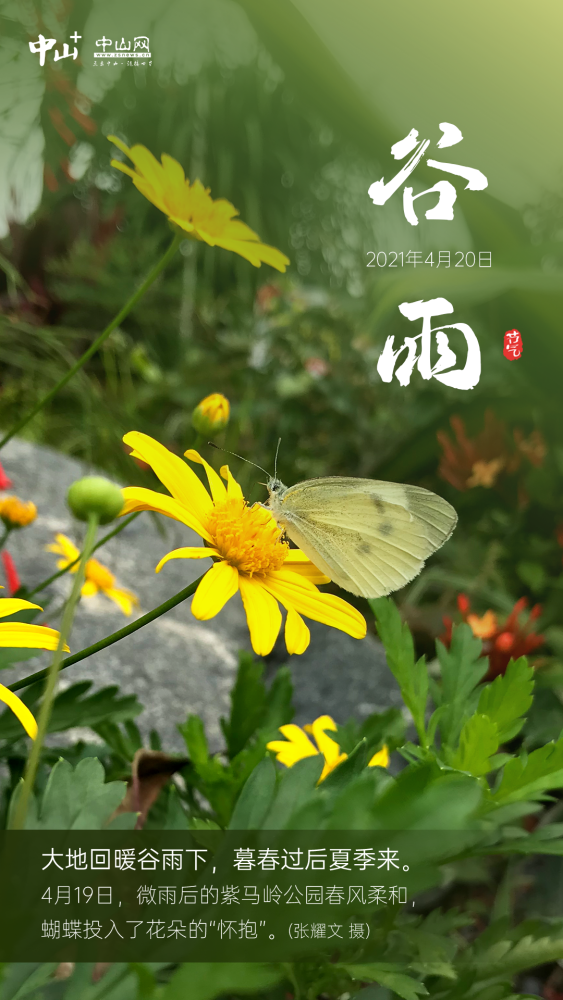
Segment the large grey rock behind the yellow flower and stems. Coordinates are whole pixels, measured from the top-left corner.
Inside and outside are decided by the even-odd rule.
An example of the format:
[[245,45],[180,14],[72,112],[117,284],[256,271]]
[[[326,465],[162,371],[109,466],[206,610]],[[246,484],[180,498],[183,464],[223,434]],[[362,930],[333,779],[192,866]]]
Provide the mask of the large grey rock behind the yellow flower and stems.
[[[38,508],[34,524],[14,532],[7,546],[22,580],[33,588],[56,569],[57,557],[45,551],[56,532],[80,543],[83,525],[72,519],[65,496],[75,479],[96,470],[50,448],[20,440],[9,442],[1,457],[13,480],[11,492],[32,499]],[[97,557],[115,573],[118,586],[137,594],[141,606],[134,614],[140,616],[186,587],[211,565],[210,560],[173,560],[155,574],[154,567],[170,549],[199,542],[198,536],[184,525],[159,518],[157,526],[150,514],[143,513],[99,550]],[[49,588],[55,595],[46,614],[49,624],[56,626],[53,609],[55,605],[60,607],[69,586],[66,575]],[[35,598],[38,603],[42,596]],[[188,713],[197,712],[205,722],[211,747],[218,749],[222,744],[219,718],[228,712],[237,653],[239,649],[250,649],[246,620],[238,594],[208,622],[196,621],[188,604],[179,605],[119,643],[71,666],[61,675],[61,685],[89,679],[96,687],[118,684],[124,693],[135,692],[145,706],[138,719],[143,735],[156,729],[170,750],[183,749],[176,726]],[[75,617],[71,650],[96,642],[126,622],[105,595],[83,599]],[[277,665],[290,665],[296,722],[308,722],[325,713],[337,722],[345,722],[352,715],[361,719],[372,711],[401,705],[376,639],[368,635],[358,641],[317,623],[311,624],[311,635],[311,645],[302,656],[288,658],[280,640],[267,658],[269,676]],[[2,680],[11,683],[47,662],[48,654],[40,654],[5,671]],[[56,741],[60,742],[60,738]]]

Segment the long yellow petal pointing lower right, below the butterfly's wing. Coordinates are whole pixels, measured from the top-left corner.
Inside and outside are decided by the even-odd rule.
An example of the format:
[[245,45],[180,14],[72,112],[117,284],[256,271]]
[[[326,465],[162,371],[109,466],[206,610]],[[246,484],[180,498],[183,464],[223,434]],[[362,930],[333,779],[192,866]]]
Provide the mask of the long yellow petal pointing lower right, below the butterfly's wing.
[[334,594],[321,594],[305,577],[290,569],[274,570],[264,578],[264,587],[285,608],[347,632],[354,639],[363,639],[365,618],[351,604]]

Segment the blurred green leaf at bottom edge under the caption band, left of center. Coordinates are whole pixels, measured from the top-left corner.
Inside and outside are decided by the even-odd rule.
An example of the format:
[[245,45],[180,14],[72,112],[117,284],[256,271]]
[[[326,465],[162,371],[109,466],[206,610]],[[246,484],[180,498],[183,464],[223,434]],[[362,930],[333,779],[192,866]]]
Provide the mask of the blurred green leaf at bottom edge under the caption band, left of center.
[[233,993],[257,993],[283,979],[281,967],[260,962],[187,962],[174,973],[159,1000],[213,1000]]

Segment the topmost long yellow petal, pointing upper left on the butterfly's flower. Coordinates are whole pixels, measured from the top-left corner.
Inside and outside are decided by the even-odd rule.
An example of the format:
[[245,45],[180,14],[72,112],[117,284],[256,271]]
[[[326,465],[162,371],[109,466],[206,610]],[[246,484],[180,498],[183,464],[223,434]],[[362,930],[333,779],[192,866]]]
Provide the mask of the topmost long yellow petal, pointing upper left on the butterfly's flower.
[[134,449],[136,457],[150,465],[168,492],[205,524],[212,508],[211,498],[193,469],[148,434],[130,431],[123,440]]

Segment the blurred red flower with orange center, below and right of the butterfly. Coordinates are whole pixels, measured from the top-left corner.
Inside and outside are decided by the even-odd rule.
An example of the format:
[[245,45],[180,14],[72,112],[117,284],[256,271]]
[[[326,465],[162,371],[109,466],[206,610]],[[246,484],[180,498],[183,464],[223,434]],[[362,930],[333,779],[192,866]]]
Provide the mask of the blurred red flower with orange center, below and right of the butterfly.
[[[543,635],[534,632],[534,622],[541,615],[541,606],[535,604],[523,624],[518,620],[527,605],[527,598],[521,597],[516,601],[506,621],[500,624],[493,611],[486,611],[481,618],[471,614],[471,603],[467,594],[459,594],[457,606],[462,620],[471,627],[473,635],[482,640],[483,653],[489,658],[489,669],[483,678],[484,681],[491,681],[499,674],[504,674],[511,659],[517,660],[519,656],[528,656],[538,646],[543,645]],[[453,621],[446,615],[444,615],[444,626],[445,632],[440,639],[449,649]]]

